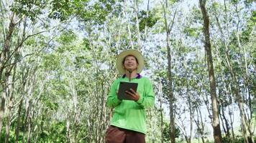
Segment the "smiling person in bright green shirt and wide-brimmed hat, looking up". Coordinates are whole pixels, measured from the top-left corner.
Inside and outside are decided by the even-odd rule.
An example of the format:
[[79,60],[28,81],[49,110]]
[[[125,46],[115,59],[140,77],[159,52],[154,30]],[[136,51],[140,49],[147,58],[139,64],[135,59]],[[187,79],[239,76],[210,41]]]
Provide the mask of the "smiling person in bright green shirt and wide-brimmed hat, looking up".
[[[106,106],[114,109],[110,126],[106,130],[106,143],[145,143],[146,112],[155,103],[152,84],[140,72],[145,61],[140,51],[128,49],[122,51],[116,59],[116,68],[122,77],[111,84]],[[120,82],[135,82],[137,92],[126,91],[131,100],[117,97]]]

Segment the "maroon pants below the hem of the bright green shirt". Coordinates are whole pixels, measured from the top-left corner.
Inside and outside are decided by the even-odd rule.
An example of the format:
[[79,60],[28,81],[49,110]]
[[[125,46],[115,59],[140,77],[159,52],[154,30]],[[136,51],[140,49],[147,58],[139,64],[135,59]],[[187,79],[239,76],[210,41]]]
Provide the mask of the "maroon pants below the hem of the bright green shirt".
[[145,134],[109,126],[106,130],[106,143],[145,143]]

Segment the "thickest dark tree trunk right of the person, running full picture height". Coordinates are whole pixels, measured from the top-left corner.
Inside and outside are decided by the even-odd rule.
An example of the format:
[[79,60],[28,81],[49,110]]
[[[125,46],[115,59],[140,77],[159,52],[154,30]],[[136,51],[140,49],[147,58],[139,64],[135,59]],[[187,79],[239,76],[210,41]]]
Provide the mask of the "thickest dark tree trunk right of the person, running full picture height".
[[216,83],[214,76],[214,65],[211,56],[211,41],[209,34],[209,16],[206,11],[206,0],[199,0],[203,19],[204,19],[204,36],[205,36],[205,50],[207,55],[207,64],[209,71],[209,81],[210,81],[210,90],[211,90],[211,106],[212,106],[212,115],[213,122],[212,127],[214,129],[214,142],[221,143],[221,127],[219,124],[219,109],[216,99]]

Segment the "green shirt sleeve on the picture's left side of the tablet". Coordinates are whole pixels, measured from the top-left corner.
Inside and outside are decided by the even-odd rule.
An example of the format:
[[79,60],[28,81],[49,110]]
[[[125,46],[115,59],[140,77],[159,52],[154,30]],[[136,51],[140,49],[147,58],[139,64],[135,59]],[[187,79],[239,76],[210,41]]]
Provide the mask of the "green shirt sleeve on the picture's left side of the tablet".
[[114,108],[122,102],[122,100],[119,100],[117,98],[117,94],[116,94],[118,83],[119,82],[116,80],[113,82],[113,84],[111,84],[110,92],[109,92],[108,98],[106,99],[107,107]]

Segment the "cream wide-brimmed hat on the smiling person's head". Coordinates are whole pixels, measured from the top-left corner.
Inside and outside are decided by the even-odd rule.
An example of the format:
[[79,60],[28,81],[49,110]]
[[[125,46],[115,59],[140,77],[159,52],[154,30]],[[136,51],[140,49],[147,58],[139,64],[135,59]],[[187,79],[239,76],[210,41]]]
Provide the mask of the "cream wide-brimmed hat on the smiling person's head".
[[137,51],[137,50],[134,50],[134,49],[128,49],[126,51],[122,51],[117,56],[116,68],[119,71],[119,74],[125,74],[123,61],[124,61],[124,58],[126,56],[129,56],[129,55],[135,56],[137,61],[138,61],[137,73],[140,73],[142,71],[142,69],[144,68],[145,62],[144,62],[143,56],[140,53],[140,51]]

